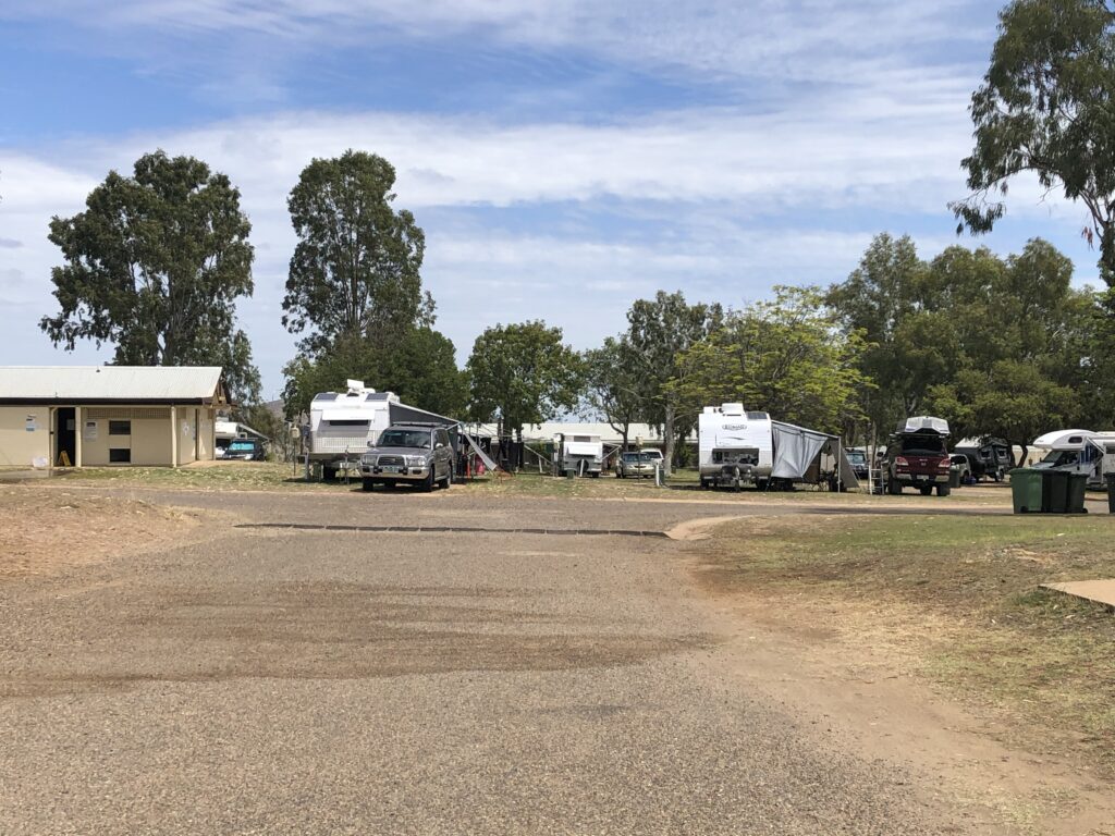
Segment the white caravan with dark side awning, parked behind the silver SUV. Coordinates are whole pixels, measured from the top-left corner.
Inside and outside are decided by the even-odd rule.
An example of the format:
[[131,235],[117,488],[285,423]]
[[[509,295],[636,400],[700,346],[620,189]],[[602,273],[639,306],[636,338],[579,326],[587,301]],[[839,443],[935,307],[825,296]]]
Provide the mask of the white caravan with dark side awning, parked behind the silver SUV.
[[310,402],[309,456],[326,479],[343,466],[356,468],[391,424],[423,422],[449,429],[457,449],[457,421],[399,401],[395,392],[377,392],[362,380],[349,380],[346,392],[321,392]]

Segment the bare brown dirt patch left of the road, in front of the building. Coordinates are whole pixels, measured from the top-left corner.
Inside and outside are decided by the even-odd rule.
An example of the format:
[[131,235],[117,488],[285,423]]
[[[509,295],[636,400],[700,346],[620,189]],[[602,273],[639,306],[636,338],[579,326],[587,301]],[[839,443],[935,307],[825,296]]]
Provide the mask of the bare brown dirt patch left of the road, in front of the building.
[[202,512],[126,498],[116,492],[0,483],[0,579],[159,548],[195,536]]

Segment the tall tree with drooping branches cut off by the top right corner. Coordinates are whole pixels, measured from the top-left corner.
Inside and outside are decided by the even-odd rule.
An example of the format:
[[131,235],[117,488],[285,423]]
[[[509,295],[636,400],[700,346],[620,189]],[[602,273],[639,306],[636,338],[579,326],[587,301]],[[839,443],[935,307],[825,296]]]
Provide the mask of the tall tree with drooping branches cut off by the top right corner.
[[1111,0],[1014,0],[972,95],[976,147],[962,165],[972,195],[950,205],[973,233],[991,230],[1022,172],[1089,214],[1101,275],[1115,285],[1115,8]]

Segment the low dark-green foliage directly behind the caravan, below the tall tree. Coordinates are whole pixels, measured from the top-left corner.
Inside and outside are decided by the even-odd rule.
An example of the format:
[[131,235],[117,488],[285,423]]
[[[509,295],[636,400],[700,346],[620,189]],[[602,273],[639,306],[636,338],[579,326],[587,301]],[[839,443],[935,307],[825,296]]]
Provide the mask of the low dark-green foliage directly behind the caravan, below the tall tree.
[[359,336],[340,337],[314,358],[299,357],[283,369],[283,404],[294,418],[319,392],[343,391],[349,379],[392,391],[404,404],[447,417],[464,414],[467,378],[457,368],[453,342],[428,327],[411,328],[384,344]]

